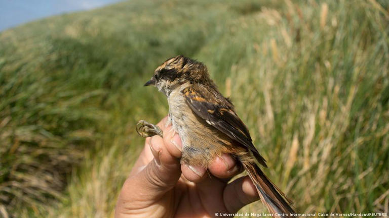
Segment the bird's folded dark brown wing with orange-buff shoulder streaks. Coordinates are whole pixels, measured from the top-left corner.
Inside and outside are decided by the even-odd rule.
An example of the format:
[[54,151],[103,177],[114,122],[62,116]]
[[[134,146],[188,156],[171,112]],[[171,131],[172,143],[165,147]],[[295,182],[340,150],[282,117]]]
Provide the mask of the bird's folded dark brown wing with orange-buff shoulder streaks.
[[247,127],[234,112],[234,106],[227,99],[218,92],[212,93],[200,84],[186,87],[182,90],[182,94],[195,114],[231,139],[247,147],[257,161],[266,167],[265,159],[254,147]]

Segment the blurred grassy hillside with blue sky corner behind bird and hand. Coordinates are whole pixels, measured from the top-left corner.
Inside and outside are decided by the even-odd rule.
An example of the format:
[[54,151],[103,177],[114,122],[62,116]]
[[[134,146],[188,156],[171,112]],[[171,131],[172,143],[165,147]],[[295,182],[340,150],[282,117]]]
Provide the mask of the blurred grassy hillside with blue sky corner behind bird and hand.
[[142,84],[180,54],[208,66],[297,211],[388,213],[387,1],[145,0],[63,14],[117,1],[77,2],[0,1],[0,216],[113,217],[144,142],[136,122],[168,112]]

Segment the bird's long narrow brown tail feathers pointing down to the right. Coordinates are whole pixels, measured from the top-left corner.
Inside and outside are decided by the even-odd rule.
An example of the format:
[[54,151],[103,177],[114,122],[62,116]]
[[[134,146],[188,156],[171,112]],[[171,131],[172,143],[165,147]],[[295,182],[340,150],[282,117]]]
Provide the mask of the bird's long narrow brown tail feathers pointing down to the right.
[[283,214],[293,217],[292,213],[295,212],[290,206],[290,200],[263,174],[261,169],[254,162],[242,162],[242,164],[269,212],[275,214],[275,217],[287,216]]

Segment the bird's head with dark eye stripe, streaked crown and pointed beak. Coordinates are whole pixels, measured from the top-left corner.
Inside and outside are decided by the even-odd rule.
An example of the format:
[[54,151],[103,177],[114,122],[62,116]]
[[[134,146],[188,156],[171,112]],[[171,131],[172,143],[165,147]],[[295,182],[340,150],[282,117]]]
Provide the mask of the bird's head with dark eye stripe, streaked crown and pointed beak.
[[170,92],[182,84],[209,83],[207,67],[184,56],[170,58],[155,69],[151,79],[144,86],[154,85],[169,96]]

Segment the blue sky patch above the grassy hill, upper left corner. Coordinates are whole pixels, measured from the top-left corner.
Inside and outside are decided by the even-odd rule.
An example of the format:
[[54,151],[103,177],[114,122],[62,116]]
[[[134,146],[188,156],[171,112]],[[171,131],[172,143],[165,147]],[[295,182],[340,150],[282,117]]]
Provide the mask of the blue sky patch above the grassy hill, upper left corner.
[[122,0],[0,0],[0,31],[53,15],[90,10]]

